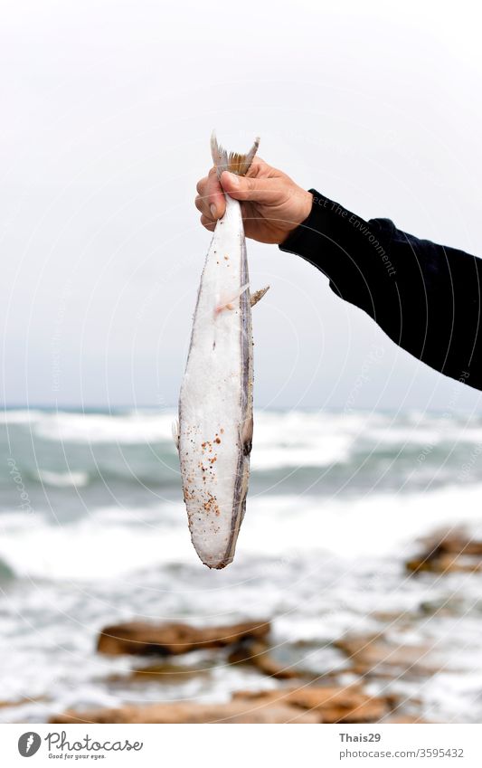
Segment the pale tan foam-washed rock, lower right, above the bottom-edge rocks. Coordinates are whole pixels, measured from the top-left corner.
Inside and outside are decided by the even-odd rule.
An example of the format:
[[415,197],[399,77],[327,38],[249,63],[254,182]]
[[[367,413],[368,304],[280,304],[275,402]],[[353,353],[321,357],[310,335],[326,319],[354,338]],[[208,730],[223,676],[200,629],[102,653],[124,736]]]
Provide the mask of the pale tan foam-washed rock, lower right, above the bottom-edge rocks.
[[336,640],[334,645],[349,657],[354,673],[362,676],[428,677],[442,666],[442,662],[432,659],[430,646],[402,646],[384,640],[380,635],[347,636]]

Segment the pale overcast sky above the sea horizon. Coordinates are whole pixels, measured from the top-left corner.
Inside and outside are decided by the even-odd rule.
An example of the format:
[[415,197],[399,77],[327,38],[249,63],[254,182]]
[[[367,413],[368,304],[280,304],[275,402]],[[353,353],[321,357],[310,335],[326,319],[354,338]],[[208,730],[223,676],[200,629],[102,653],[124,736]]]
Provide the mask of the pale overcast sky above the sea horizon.
[[[482,255],[476,3],[0,2],[5,403],[177,400],[209,137]],[[479,409],[326,278],[249,243],[258,405]],[[360,375],[363,373],[363,381]],[[482,403],[481,403],[482,404]]]

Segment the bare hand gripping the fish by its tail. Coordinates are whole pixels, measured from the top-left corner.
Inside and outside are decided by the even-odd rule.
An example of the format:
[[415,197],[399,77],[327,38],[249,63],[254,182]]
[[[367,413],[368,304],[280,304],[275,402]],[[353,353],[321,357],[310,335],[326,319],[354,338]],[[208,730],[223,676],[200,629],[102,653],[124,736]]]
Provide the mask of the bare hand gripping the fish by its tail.
[[227,171],[218,179],[216,169],[197,184],[195,205],[201,211],[201,223],[213,232],[224,214],[223,192],[241,201],[246,237],[259,242],[280,243],[305,221],[313,204],[313,195],[296,185],[282,171],[255,157],[248,174],[238,176]]

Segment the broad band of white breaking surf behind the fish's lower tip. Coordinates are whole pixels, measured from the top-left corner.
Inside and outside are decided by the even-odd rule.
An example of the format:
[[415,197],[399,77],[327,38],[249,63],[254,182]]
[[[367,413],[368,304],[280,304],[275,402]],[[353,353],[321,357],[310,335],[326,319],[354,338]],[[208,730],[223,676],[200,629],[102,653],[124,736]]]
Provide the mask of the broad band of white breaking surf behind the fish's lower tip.
[[[295,563],[316,553],[324,562],[330,554],[347,562],[380,555],[401,559],[434,527],[466,524],[481,536],[481,495],[479,485],[355,500],[255,496],[248,502],[236,562]],[[34,578],[90,581],[163,564],[197,564],[184,505],[177,502],[130,514],[113,507],[94,510],[62,526],[39,519],[35,526],[2,528],[0,557],[16,574]]]

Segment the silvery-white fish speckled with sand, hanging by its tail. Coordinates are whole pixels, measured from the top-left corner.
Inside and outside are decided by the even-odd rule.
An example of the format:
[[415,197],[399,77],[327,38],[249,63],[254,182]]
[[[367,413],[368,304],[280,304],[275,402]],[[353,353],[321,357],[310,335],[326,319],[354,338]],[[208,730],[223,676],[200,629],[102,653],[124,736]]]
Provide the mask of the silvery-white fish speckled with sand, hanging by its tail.
[[[211,137],[217,175],[246,175],[258,151],[227,153]],[[194,549],[209,568],[232,563],[246,510],[253,418],[251,306],[241,205],[228,194],[203,267],[173,436]]]

